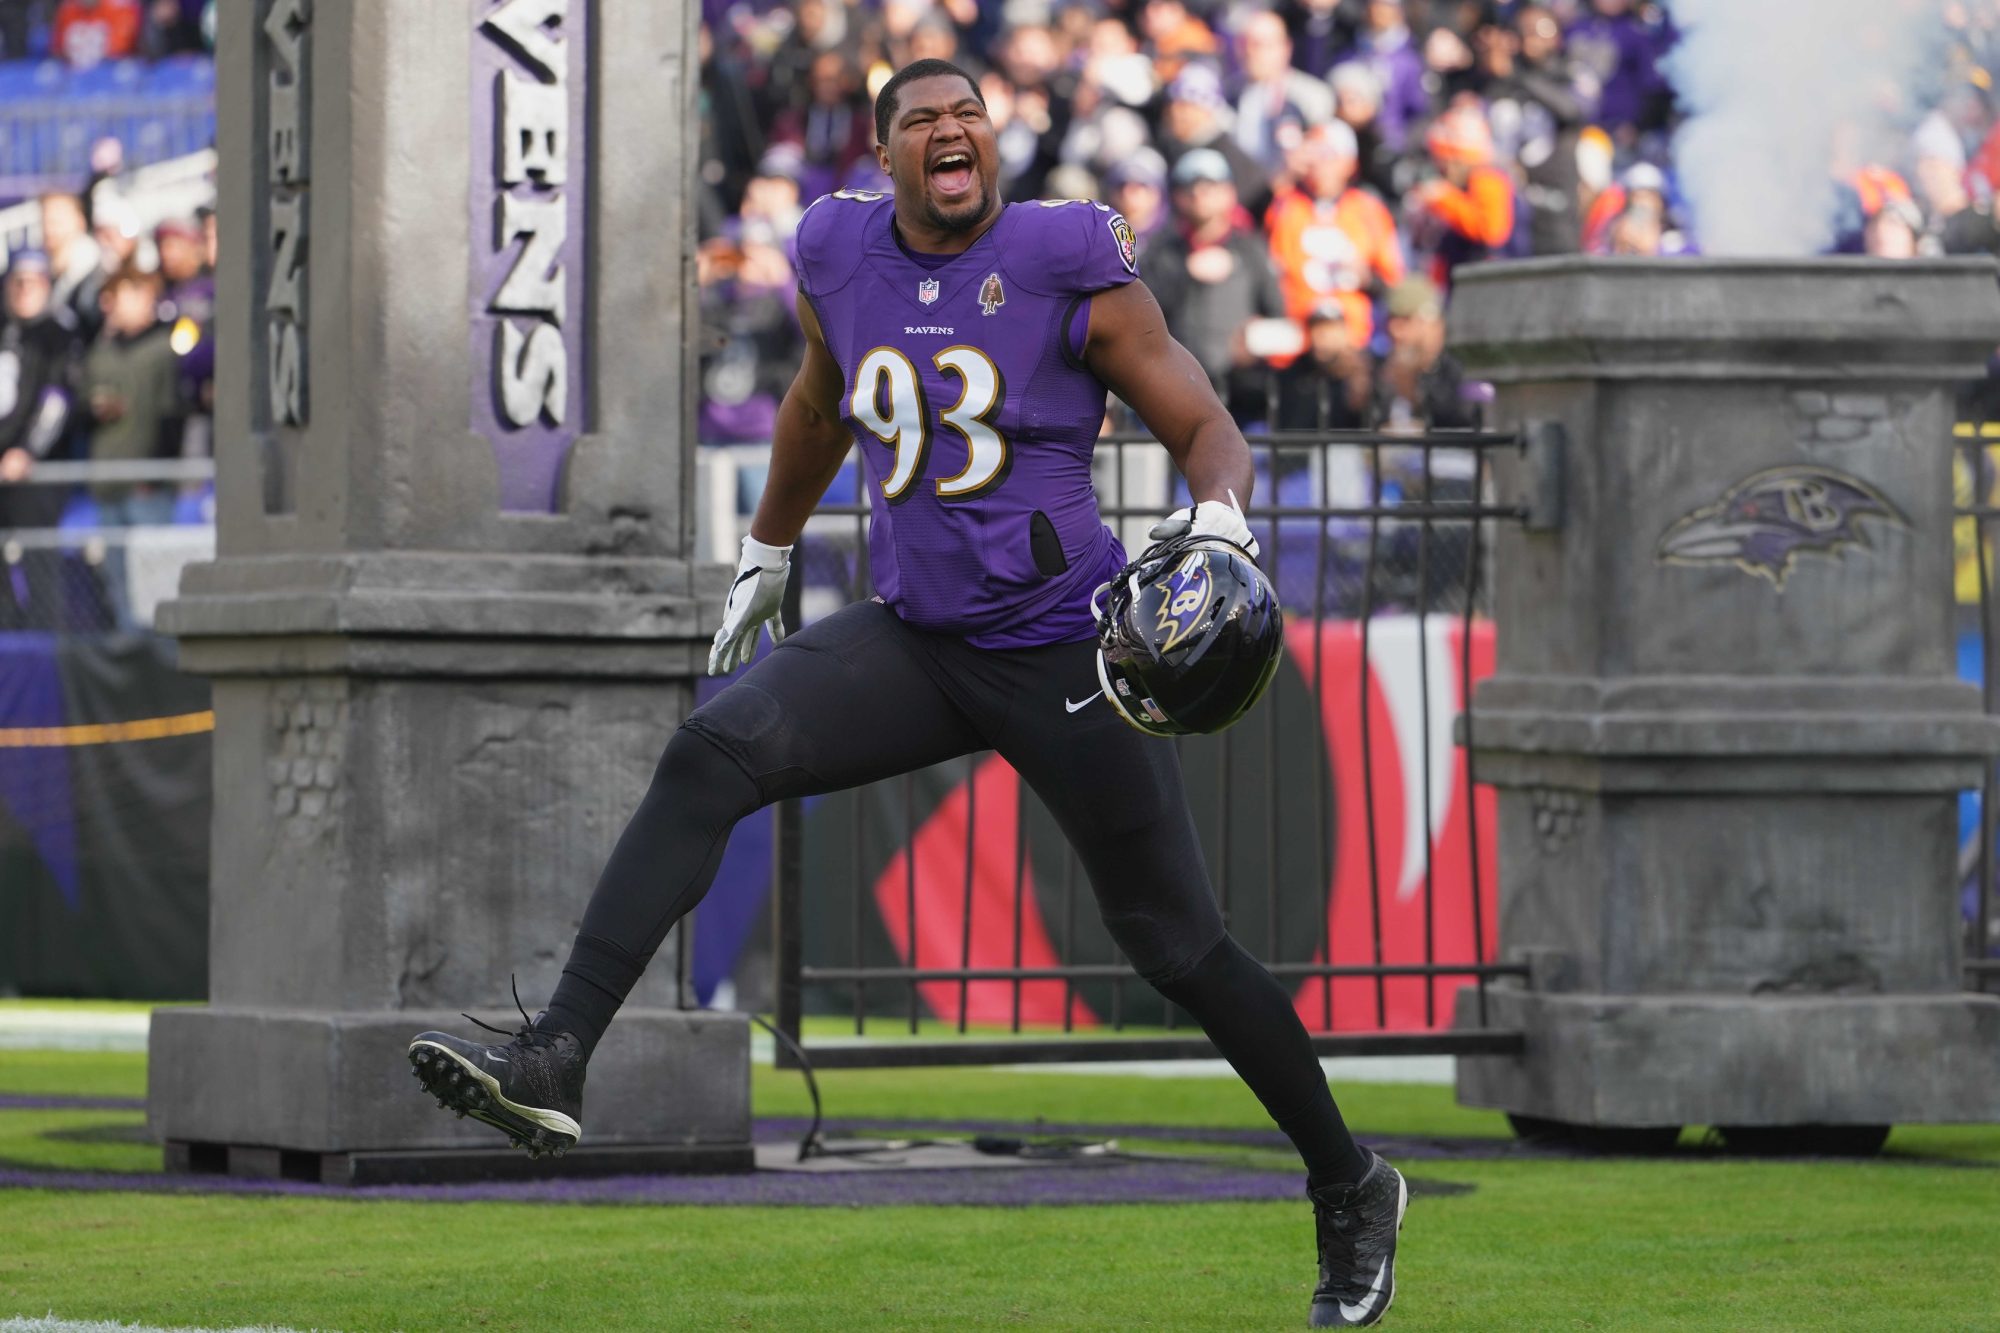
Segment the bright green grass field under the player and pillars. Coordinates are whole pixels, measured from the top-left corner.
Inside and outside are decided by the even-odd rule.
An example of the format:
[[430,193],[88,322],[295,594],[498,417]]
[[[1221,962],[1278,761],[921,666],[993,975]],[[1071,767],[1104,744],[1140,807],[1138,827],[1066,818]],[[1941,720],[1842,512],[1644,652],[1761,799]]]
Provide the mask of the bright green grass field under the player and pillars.
[[[1228,1079],[834,1071],[836,1117],[1262,1127]],[[1380,1135],[1504,1135],[1442,1087],[1342,1087]],[[144,1057],[0,1051],[0,1093],[136,1097]],[[758,1069],[760,1115],[800,1115]],[[158,1171],[136,1111],[0,1111],[0,1165]],[[2000,1127],[1874,1163],[1424,1161],[1386,1327],[2000,1327]],[[1232,1155],[1242,1157],[1240,1149]],[[0,1191],[0,1319],[294,1329],[1288,1329],[1298,1205],[716,1209]]]

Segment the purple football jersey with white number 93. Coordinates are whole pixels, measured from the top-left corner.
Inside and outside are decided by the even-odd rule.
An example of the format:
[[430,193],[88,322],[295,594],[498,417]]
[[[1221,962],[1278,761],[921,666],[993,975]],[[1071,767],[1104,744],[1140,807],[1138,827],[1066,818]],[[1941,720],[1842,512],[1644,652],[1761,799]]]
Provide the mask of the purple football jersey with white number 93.
[[892,218],[886,194],[842,190],[798,224],[800,286],[876,488],[876,592],[980,648],[1088,638],[1124,550],[1090,488],[1104,384],[1078,354],[1090,294],[1138,274],[1132,228],[1088,200],[1008,204],[936,256]]

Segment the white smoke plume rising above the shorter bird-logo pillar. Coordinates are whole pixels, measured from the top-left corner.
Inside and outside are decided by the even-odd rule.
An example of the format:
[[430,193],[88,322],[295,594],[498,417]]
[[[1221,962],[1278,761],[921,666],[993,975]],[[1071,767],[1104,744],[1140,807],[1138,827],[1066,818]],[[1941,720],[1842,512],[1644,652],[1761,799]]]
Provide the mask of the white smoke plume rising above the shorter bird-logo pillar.
[[1674,166],[1704,254],[1818,254],[1836,176],[1898,164],[1942,0],[1670,0]]

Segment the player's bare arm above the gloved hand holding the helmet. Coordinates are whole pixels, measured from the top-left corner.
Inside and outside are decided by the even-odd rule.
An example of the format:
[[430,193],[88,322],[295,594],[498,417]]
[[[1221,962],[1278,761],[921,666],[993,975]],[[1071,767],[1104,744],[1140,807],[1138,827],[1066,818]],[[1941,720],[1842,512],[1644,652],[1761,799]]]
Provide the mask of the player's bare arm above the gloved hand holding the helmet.
[[1228,504],[1234,492],[1240,504],[1250,502],[1250,446],[1202,364],[1166,332],[1160,302],[1144,282],[1090,298],[1084,364],[1166,444],[1196,500]]

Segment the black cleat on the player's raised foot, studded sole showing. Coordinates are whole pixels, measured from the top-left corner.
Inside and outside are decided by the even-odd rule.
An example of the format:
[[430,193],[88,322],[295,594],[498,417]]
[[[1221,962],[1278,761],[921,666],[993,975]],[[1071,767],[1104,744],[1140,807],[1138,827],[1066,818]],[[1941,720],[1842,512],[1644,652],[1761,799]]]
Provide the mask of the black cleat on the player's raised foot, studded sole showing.
[[[528,1157],[562,1157],[584,1135],[578,1119],[584,1113],[584,1049],[568,1033],[538,1031],[526,1009],[520,1017],[522,1029],[498,1047],[418,1033],[410,1065],[446,1111],[486,1121],[528,1149]],[[506,1031],[472,1015],[466,1019],[490,1033]]]

